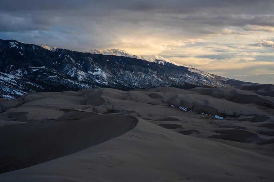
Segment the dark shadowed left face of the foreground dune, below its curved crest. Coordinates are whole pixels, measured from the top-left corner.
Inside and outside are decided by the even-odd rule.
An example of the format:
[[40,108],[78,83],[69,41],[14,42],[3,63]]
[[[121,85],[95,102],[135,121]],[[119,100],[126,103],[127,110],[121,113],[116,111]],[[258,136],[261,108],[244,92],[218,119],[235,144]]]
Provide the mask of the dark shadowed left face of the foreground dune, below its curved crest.
[[[82,113],[74,112],[74,117]],[[0,127],[0,172],[73,154],[120,136],[137,124],[127,115],[95,115]]]

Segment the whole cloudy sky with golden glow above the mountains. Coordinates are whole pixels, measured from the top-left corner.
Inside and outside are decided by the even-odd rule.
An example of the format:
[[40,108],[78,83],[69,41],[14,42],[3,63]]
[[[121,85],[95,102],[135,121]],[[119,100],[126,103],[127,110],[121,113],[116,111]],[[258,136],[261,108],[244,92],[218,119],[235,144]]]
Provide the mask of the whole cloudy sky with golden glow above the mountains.
[[0,38],[75,51],[122,49],[274,84],[274,0],[9,0]]

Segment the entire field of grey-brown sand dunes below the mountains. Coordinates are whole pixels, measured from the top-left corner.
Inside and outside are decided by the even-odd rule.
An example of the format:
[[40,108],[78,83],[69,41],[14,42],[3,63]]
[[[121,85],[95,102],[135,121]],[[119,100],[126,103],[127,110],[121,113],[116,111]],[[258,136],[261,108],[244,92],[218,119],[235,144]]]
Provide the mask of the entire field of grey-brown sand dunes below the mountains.
[[0,101],[0,181],[274,181],[274,86]]

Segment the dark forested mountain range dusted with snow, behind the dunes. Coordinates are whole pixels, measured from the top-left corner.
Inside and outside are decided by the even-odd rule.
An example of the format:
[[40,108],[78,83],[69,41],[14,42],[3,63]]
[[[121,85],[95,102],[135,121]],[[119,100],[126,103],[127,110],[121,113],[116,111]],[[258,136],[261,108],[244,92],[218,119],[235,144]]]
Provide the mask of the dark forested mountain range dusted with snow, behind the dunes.
[[115,50],[110,55],[76,52],[1,39],[0,48],[0,98],[16,98],[36,91],[99,87],[130,90],[259,85],[174,64],[160,56],[149,59],[129,53],[117,56],[113,55]]

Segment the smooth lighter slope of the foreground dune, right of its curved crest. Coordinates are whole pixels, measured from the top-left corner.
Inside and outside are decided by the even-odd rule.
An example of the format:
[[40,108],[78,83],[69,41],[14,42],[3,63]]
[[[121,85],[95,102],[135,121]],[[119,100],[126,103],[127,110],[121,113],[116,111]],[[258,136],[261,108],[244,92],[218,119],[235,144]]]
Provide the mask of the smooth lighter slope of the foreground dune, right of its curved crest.
[[5,181],[273,181],[274,159],[144,120],[75,154],[0,175]]

